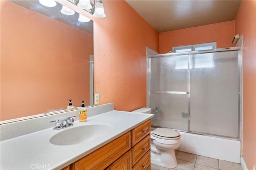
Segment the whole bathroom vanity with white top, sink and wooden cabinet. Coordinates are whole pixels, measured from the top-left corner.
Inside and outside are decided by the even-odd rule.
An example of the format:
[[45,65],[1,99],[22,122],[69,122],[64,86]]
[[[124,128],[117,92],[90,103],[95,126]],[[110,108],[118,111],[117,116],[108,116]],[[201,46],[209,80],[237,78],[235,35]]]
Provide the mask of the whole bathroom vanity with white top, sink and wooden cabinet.
[[[53,125],[48,124],[74,115],[72,127],[53,130]],[[74,110],[3,124],[0,169],[149,170],[153,116],[116,111],[110,103],[88,108],[88,121],[82,123],[78,121],[78,110]],[[47,128],[46,125],[37,127],[37,123],[45,123]],[[30,131],[22,134],[24,125],[34,128],[27,128]],[[17,135],[18,131],[22,135]]]

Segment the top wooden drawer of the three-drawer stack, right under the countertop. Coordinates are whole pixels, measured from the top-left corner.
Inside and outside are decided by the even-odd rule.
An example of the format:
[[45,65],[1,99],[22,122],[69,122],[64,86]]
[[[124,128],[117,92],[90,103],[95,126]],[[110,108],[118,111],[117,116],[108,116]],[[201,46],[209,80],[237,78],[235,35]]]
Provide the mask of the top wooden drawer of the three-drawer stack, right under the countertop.
[[132,147],[150,134],[150,120],[132,129]]

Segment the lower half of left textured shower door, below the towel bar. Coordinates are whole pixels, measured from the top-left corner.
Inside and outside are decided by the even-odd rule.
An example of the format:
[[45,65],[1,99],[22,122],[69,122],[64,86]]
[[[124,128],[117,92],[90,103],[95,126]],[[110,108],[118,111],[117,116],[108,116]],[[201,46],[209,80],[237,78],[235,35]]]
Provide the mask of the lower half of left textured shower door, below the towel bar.
[[154,114],[153,126],[188,130],[187,94],[150,94],[150,108]]

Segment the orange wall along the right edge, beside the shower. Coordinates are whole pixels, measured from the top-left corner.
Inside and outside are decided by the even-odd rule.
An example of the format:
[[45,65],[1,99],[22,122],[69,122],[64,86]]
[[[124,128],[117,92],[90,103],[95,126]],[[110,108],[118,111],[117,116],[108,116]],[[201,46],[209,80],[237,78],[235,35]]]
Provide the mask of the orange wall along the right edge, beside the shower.
[[242,0],[236,34],[243,35],[243,157],[256,166],[256,1]]

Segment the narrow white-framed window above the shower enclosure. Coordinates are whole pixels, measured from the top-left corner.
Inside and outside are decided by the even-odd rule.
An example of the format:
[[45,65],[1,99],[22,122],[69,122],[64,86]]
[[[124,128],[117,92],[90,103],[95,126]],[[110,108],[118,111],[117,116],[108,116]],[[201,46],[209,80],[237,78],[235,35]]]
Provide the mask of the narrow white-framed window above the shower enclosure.
[[211,49],[216,49],[216,47],[217,47],[217,43],[212,42],[212,43],[203,43],[203,44],[172,47],[172,51],[174,53],[180,53],[180,52],[188,52],[188,51],[211,50]]

